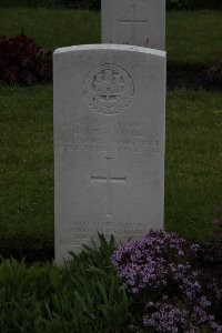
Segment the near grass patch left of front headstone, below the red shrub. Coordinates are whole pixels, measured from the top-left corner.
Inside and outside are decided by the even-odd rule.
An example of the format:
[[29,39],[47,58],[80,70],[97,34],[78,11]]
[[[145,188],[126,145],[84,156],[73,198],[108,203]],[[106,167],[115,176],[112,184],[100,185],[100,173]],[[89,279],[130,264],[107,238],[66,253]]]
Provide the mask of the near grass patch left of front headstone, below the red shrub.
[[0,101],[1,245],[52,245],[52,87],[3,85]]

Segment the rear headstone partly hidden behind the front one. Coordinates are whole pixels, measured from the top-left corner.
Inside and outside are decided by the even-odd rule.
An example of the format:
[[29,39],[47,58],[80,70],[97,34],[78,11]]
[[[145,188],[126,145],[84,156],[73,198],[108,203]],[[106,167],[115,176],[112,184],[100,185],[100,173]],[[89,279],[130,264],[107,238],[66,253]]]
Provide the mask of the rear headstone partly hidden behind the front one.
[[165,0],[102,0],[102,42],[164,50]]

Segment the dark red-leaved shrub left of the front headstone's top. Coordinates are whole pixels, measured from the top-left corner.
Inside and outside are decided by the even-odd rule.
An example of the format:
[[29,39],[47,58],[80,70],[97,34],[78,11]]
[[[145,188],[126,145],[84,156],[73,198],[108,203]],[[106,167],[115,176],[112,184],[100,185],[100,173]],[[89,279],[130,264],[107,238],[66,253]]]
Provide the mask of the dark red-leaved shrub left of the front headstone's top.
[[34,84],[50,81],[51,52],[37,47],[33,39],[21,33],[0,37],[0,80],[7,83]]

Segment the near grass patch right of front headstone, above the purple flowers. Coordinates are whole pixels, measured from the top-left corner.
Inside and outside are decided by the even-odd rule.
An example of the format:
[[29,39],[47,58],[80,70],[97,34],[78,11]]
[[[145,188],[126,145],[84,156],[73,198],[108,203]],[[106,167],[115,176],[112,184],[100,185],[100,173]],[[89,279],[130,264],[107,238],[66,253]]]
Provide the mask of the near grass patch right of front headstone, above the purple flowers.
[[165,226],[188,239],[208,234],[222,204],[222,94],[168,93]]

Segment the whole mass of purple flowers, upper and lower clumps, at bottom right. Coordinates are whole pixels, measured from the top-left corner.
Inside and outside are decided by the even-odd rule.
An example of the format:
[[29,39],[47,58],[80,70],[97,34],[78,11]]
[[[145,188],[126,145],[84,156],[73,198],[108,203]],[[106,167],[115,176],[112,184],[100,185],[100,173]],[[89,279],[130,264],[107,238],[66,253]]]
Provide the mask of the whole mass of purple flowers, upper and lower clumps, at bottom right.
[[[194,333],[201,326],[222,332],[210,314],[212,304],[203,294],[202,272],[194,269],[199,251],[198,244],[164,231],[150,231],[114,251],[112,264],[124,287],[143,302],[144,326],[155,332]],[[216,282],[210,287],[221,296]]]

